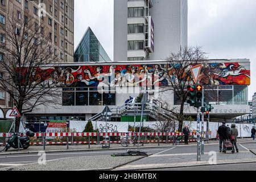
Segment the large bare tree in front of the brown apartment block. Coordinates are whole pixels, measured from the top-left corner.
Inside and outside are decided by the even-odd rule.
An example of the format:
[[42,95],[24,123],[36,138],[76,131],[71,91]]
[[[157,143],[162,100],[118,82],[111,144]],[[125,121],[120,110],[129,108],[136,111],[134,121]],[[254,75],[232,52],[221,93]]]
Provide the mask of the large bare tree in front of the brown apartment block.
[[[9,94],[20,114],[30,113],[40,105],[57,103],[56,82],[44,82],[51,80],[52,75],[40,69],[56,62],[57,56],[52,53],[52,40],[47,28],[39,27],[32,20],[34,18],[26,14],[21,19],[13,14],[7,16],[5,25],[1,24],[0,29],[5,40],[0,45],[1,52],[5,53],[3,61],[0,61],[4,73],[0,89]],[[19,123],[20,118],[17,117],[15,132],[19,130]]]

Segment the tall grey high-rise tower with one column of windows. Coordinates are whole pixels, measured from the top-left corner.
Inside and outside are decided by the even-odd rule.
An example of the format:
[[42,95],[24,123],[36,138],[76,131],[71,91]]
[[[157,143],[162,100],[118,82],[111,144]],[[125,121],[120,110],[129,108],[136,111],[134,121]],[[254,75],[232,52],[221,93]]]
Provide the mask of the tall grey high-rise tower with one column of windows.
[[114,0],[114,61],[160,60],[187,46],[187,0]]

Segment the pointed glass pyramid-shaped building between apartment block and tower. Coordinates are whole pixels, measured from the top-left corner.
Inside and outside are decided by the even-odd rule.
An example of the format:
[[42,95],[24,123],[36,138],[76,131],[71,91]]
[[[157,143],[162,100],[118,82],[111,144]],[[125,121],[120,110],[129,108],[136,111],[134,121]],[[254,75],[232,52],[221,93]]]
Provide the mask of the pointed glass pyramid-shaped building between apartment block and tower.
[[90,27],[87,28],[75,51],[75,62],[109,62],[108,54]]

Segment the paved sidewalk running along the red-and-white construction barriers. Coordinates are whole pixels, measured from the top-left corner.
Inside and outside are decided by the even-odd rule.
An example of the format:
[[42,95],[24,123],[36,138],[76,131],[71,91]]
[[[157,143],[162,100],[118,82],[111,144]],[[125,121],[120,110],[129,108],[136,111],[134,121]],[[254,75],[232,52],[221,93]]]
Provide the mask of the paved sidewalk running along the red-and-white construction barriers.
[[[253,142],[253,140],[251,138],[243,138],[243,139],[238,139],[237,141],[238,143],[251,143]],[[210,140],[209,144],[217,144],[218,140]],[[207,145],[207,142],[205,142],[205,144]],[[193,142],[190,144],[190,146],[194,146],[196,145],[196,142]],[[154,147],[172,147],[173,144],[172,143],[160,143],[160,145],[158,146],[158,143],[148,143],[148,144],[144,144],[144,146],[141,146],[139,148],[154,148]],[[176,147],[181,147],[184,146],[183,143],[181,143],[180,145],[176,146]],[[185,146],[184,146],[185,147]],[[3,150],[3,146],[0,147],[0,151]],[[121,146],[121,144],[110,144],[110,148],[102,148],[102,145],[99,144],[91,144],[90,148],[89,145],[69,145],[69,150],[67,150],[67,145],[52,145],[52,146],[46,146],[46,152],[74,152],[74,151],[95,151],[95,150],[128,150],[131,148],[137,148],[136,146],[134,146],[133,144],[130,144],[129,147],[123,147]],[[23,150],[23,148],[20,149],[20,151],[18,151],[17,149],[14,148],[10,148],[7,152],[3,151],[0,152],[0,155],[11,155],[11,154],[34,154],[34,153],[38,153],[39,151],[43,151],[44,148],[43,146],[30,146],[27,150]],[[256,150],[255,150],[256,153]]]

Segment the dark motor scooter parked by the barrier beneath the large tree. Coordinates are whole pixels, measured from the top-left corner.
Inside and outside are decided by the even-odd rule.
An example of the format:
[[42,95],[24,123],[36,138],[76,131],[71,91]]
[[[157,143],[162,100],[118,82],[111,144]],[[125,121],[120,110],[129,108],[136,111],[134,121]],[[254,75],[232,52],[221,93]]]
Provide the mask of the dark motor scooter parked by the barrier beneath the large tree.
[[[13,136],[6,138],[6,146],[5,146],[5,151],[9,150],[9,148],[13,147],[15,149],[17,148],[23,148],[27,149],[30,146],[30,138],[29,137],[34,137],[35,133],[28,130],[26,132],[27,137],[20,137],[20,134],[14,133]],[[19,145],[18,145],[19,141]]]

